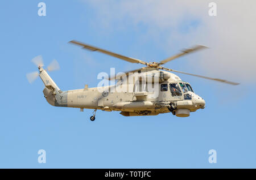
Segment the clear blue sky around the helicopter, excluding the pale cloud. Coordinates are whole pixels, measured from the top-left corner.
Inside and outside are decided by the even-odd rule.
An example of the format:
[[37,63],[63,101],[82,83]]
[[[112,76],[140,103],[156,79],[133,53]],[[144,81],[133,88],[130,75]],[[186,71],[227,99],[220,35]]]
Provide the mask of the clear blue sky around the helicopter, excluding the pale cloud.
[[[40,54],[45,65],[53,58],[60,63],[60,71],[49,75],[63,91],[84,84],[96,87],[97,74],[110,73],[110,67],[117,71],[141,67],[67,43],[73,39],[145,61],[160,61],[195,43],[212,45],[216,52],[214,44],[204,38],[187,38],[194,32],[197,37],[198,32],[200,37],[209,33],[205,18],[180,11],[179,23],[159,25],[147,21],[145,15],[134,20],[137,15],[130,15],[129,8],[127,14],[119,14],[118,6],[101,14],[118,1],[96,7],[93,1],[49,0],[42,1],[47,8],[43,17],[38,16],[39,2],[0,2],[0,168],[256,168],[256,98],[251,95],[255,74],[248,75],[252,82],[238,79],[239,86],[177,74],[206,101],[205,109],[188,118],[171,113],[123,117],[118,112],[98,111],[94,122],[89,120],[93,110],[53,107],[43,97],[40,79],[27,82],[26,73],[36,70],[31,59]],[[166,67],[237,81],[228,76],[234,73],[228,72],[229,67],[207,69],[210,57],[202,59],[200,53],[207,57],[211,49],[176,59]],[[46,164],[38,163],[39,149],[46,151]],[[216,164],[208,162],[210,149],[217,151]]]

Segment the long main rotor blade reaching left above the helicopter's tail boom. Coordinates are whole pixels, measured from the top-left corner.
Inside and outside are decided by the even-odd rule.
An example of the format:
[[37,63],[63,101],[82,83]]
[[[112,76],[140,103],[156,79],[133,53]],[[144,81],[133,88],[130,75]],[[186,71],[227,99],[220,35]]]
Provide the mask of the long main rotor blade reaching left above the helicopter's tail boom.
[[92,51],[98,51],[98,52],[101,52],[101,53],[104,53],[104,54],[112,55],[113,57],[123,59],[123,60],[131,62],[131,63],[141,63],[143,65],[147,64],[146,62],[141,61],[139,59],[129,58],[129,57],[126,57],[124,55],[116,54],[116,53],[110,52],[108,50],[104,50],[104,49],[100,49],[100,48],[97,48],[97,47],[94,47],[94,46],[91,46],[91,45],[88,45],[88,44],[84,44],[84,43],[79,42],[79,41],[73,40],[73,41],[69,41],[69,43],[82,46],[82,48],[84,48],[84,49],[88,49],[88,50],[92,50]]

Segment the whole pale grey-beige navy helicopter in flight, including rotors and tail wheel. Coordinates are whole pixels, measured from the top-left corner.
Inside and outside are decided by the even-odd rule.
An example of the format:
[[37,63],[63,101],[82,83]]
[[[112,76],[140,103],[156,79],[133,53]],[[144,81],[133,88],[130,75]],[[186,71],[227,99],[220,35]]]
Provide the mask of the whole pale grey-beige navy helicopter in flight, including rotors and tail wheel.
[[[28,81],[31,83],[38,75],[40,76],[46,87],[43,89],[43,93],[47,102],[53,106],[80,108],[80,111],[94,109],[93,115],[90,117],[91,121],[95,120],[97,109],[108,112],[120,111],[120,114],[124,116],[158,115],[159,113],[172,112],[177,117],[188,117],[190,112],[204,109],[204,99],[195,94],[189,83],[182,81],[179,76],[171,72],[179,72],[232,85],[238,84],[227,80],[176,71],[162,66],[164,63],[185,54],[207,48],[202,45],[196,45],[191,49],[184,49],[163,61],[148,63],[79,41],[73,40],[70,43],[79,45],[84,49],[108,54],[127,62],[146,65],[146,67],[124,72],[119,76],[110,76],[108,80],[117,80],[117,83],[113,85],[94,88],[88,88],[88,85],[85,85],[83,89],[61,91],[46,70],[44,70],[42,56],[32,59],[32,62],[38,66],[39,72],[27,74]],[[54,60],[47,70],[57,70],[58,68],[59,64]]]

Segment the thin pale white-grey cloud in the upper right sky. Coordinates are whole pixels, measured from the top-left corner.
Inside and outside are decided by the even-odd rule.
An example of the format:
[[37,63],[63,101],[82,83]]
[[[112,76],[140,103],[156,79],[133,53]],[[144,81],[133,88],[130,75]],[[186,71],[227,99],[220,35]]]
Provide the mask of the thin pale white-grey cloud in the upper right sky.
[[[214,1],[217,16],[208,15],[212,1],[205,0],[85,2],[96,10],[104,29],[144,24],[146,35],[167,53],[174,46],[207,45],[210,49],[198,55],[192,66],[200,66],[206,75],[217,78],[256,81],[256,1]],[[186,32],[180,31],[180,25],[193,20],[199,23],[196,27],[188,25]],[[159,32],[166,36],[162,37],[164,42],[159,42]]]

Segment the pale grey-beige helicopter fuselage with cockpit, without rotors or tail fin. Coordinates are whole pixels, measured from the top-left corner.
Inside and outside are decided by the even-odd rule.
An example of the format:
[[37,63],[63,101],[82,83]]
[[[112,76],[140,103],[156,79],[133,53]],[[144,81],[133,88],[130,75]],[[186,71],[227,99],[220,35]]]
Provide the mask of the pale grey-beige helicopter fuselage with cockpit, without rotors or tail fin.
[[146,81],[136,80],[134,77],[138,74],[135,74],[105,87],[85,86],[84,89],[55,93],[46,87],[43,92],[53,106],[121,111],[125,116],[172,112],[187,117],[190,112],[205,106],[205,101],[193,92],[191,85],[171,72],[146,69],[139,72],[140,75],[146,77]]

